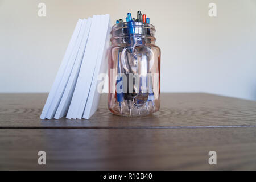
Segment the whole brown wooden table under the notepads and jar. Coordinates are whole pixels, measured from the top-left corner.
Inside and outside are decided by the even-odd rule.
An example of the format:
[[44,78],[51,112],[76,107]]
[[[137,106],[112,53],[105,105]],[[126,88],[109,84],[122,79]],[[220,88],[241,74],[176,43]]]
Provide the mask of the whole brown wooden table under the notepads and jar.
[[158,113],[129,118],[110,113],[102,95],[89,120],[41,120],[46,98],[0,94],[0,169],[256,169],[255,101],[163,93]]

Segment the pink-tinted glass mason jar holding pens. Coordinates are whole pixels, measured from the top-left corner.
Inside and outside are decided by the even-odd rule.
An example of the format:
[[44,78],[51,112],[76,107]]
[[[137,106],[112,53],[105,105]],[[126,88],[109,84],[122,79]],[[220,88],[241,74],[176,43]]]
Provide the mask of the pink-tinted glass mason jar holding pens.
[[[132,28],[132,30],[131,30]],[[155,113],[160,108],[160,48],[155,27],[123,22],[112,27],[108,49],[108,107],[122,116]]]

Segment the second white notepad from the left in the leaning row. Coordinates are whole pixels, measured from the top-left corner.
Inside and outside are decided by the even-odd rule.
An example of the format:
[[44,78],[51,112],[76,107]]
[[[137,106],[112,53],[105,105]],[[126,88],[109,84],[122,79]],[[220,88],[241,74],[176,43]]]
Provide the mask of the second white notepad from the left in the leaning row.
[[71,75],[69,76],[68,84],[65,87],[65,91],[61,98],[60,104],[57,108],[56,114],[54,116],[55,119],[64,117],[68,112],[68,107],[71,103],[73,92],[76,86],[77,77],[79,75],[79,71],[82,63],[82,57],[84,56],[91,23],[92,23],[92,18],[88,18],[86,22],[85,30],[84,30],[84,35],[82,36],[82,42],[79,48],[79,52],[77,53],[75,64],[73,65]]

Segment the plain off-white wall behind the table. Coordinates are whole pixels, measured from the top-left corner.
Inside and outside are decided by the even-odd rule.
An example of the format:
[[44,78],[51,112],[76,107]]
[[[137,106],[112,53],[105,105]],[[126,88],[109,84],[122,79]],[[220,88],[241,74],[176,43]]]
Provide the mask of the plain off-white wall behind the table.
[[49,92],[78,18],[137,10],[156,27],[162,92],[256,100],[256,0],[0,0],[0,92]]

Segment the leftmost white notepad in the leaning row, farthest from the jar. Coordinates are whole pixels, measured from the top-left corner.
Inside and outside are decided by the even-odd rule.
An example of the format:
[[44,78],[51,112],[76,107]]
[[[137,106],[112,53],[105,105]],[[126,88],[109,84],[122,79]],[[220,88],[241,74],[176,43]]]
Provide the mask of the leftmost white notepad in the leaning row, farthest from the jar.
[[49,110],[49,106],[51,105],[53,97],[56,94],[56,90],[59,87],[60,80],[63,78],[65,69],[67,68],[69,57],[71,56],[71,52],[72,52],[73,48],[75,47],[75,43],[76,43],[77,37],[79,35],[81,26],[82,26],[82,20],[79,19],[77,24],[76,24],[75,30],[73,31],[71,40],[69,41],[69,44],[68,44],[67,50],[65,52],[65,55],[63,57],[63,60],[61,62],[59,71],[57,72],[57,76],[55,78],[55,81],[53,82],[51,91],[50,91],[50,93],[49,93],[49,95],[47,97],[46,104],[44,105],[42,114],[40,115],[41,119],[46,119],[46,114],[47,114],[47,112]]

